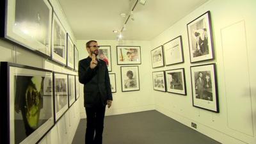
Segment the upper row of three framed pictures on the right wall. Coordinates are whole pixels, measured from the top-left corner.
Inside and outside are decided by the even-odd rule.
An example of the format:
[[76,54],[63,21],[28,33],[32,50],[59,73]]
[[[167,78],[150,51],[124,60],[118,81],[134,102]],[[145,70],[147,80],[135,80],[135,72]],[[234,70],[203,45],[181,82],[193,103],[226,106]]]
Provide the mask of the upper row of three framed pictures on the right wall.
[[[187,24],[190,62],[213,60],[211,15],[206,12]],[[184,63],[182,36],[152,49],[152,68]]]

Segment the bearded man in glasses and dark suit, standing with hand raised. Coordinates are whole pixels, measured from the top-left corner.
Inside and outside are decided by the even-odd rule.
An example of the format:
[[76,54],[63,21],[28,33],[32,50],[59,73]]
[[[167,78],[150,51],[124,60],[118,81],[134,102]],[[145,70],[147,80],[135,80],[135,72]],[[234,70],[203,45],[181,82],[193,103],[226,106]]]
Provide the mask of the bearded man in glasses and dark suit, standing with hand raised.
[[89,56],[79,61],[79,82],[84,84],[84,107],[87,125],[86,144],[102,144],[104,116],[106,105],[112,104],[112,93],[109,82],[108,67],[103,60],[98,60],[99,46],[97,41],[86,43]]

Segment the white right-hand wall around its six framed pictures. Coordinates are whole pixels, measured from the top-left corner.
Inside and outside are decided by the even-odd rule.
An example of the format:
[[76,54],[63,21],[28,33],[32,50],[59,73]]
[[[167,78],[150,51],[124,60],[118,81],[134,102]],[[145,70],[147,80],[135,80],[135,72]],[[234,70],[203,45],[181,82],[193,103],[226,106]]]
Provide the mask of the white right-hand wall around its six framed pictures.
[[[211,11],[213,61],[190,63],[187,24]],[[163,31],[151,42],[158,47],[182,35],[184,63],[152,71],[185,68],[187,96],[154,91],[156,110],[225,144],[256,143],[255,0],[211,0]],[[220,113],[193,107],[190,67],[216,63]]]

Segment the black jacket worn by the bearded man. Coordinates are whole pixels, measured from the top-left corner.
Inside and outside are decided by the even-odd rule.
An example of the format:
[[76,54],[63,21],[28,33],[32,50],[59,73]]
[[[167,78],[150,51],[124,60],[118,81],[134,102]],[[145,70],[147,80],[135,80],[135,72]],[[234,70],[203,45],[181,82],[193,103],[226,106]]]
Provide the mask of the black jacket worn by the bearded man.
[[98,60],[94,69],[90,68],[92,58],[89,56],[79,61],[79,82],[84,84],[84,107],[92,107],[97,103],[100,93],[100,102],[106,106],[107,100],[113,100],[109,81],[108,67],[105,61]]

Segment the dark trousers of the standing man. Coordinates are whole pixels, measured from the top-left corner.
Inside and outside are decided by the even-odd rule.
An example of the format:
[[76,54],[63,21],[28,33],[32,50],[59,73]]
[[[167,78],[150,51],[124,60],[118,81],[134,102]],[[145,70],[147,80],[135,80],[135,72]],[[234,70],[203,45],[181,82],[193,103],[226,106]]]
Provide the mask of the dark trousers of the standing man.
[[92,108],[85,108],[87,116],[85,134],[86,144],[102,144],[105,109],[106,106],[95,106]]

